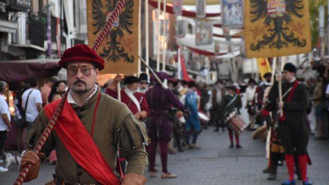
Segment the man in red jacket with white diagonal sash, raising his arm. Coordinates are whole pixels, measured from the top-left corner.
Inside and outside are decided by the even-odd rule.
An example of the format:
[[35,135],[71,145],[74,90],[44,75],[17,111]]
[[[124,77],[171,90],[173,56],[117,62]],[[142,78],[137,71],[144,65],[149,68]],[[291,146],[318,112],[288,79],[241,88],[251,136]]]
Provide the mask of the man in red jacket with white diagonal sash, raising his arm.
[[[120,91],[120,101],[127,105],[137,120],[142,121],[148,117],[150,110],[144,95],[137,92],[139,81],[139,78],[134,76],[129,76],[124,79],[124,85],[126,85],[126,88]],[[118,91],[116,88],[120,82],[121,76],[117,75],[113,82],[107,87],[105,94],[118,99]],[[119,152],[119,161],[122,171],[125,173],[126,162],[122,152]]]

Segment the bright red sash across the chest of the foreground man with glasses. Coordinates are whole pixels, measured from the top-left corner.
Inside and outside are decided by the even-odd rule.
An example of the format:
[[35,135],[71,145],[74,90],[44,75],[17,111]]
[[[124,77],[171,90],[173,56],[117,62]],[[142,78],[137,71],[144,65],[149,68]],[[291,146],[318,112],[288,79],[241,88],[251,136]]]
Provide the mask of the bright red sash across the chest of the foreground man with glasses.
[[[100,99],[100,94],[97,99],[97,105]],[[47,118],[50,119],[60,100],[48,104],[44,109]],[[92,133],[94,131],[95,115],[97,106],[94,113],[94,122]],[[99,151],[92,136],[84,127],[83,123],[77,116],[71,105],[65,101],[63,112],[58,119],[57,124],[54,126],[54,131],[65,145],[68,152],[75,161],[94,179],[101,184],[120,184],[119,179],[109,168],[101,152]]]

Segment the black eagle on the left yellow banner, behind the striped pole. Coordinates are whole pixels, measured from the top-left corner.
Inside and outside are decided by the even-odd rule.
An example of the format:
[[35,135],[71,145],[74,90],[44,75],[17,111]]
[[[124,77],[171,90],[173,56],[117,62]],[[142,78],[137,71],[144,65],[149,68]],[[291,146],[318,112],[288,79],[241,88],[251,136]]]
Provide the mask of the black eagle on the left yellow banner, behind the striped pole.
[[[117,5],[117,0],[107,0],[103,3],[102,0],[93,0],[93,34],[98,35],[99,31],[106,23],[107,12],[112,12]],[[119,14],[119,27],[111,30],[107,33],[106,45],[103,50],[100,51],[100,56],[106,58],[108,61],[117,62],[120,59],[124,59],[127,63],[134,62],[134,56],[130,55],[124,48],[121,38],[124,36],[124,30],[131,34],[133,33],[133,13],[134,2],[133,0],[127,0],[124,7]],[[109,38],[109,39],[108,39]]]

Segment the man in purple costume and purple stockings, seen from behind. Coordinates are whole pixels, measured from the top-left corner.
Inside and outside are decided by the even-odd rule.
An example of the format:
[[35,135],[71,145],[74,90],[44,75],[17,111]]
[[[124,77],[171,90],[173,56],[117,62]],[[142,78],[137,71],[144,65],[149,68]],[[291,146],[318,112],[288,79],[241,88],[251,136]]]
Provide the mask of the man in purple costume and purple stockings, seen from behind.
[[[167,86],[167,73],[157,72],[156,75],[162,81],[162,84]],[[145,93],[151,112],[148,121],[149,137],[151,138],[151,144],[149,146],[150,177],[155,177],[155,151],[159,142],[162,163],[161,178],[176,178],[177,176],[175,174],[171,174],[167,170],[168,142],[170,141],[172,135],[172,125],[170,123],[168,113],[172,105],[178,107],[182,112],[186,112],[186,110],[184,105],[182,105],[175,97],[171,89],[163,88],[154,76],[151,77],[151,81],[155,85]]]

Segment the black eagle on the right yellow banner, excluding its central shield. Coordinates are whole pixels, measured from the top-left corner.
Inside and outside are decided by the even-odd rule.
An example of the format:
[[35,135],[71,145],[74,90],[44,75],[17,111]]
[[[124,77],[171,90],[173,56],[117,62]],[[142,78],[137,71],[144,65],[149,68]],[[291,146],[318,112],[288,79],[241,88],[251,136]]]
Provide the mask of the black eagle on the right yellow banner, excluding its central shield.
[[[254,23],[262,18],[264,19],[266,32],[263,32],[262,40],[252,43],[250,48],[253,51],[260,50],[264,46],[269,48],[281,49],[287,47],[288,44],[293,46],[304,47],[306,40],[300,39],[296,33],[302,33],[301,29],[304,25],[294,25],[291,16],[303,17],[303,1],[304,0],[286,0],[286,10],[276,17],[268,15],[268,0],[249,0],[251,22]],[[259,31],[259,30],[258,30]]]

